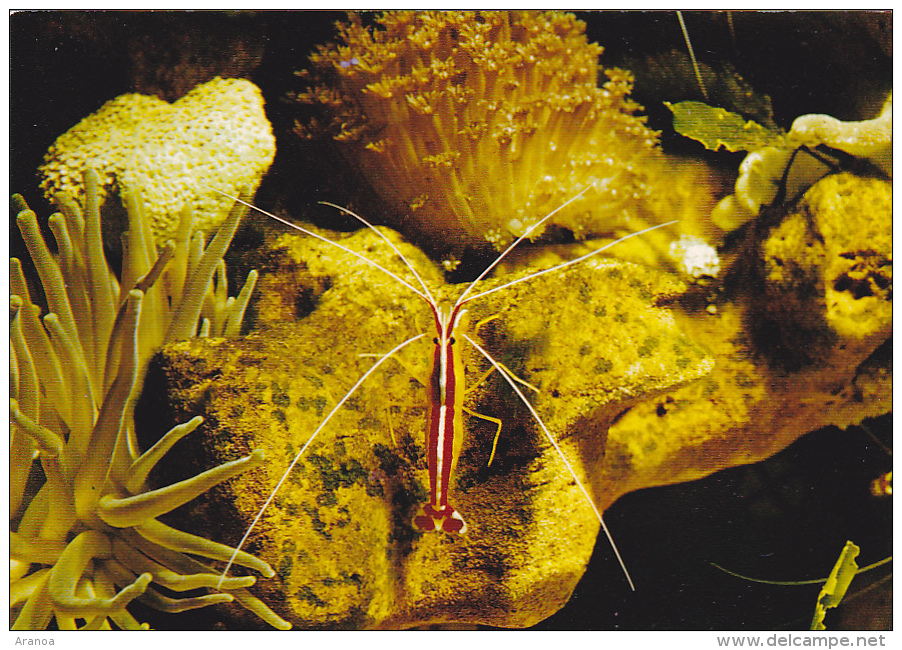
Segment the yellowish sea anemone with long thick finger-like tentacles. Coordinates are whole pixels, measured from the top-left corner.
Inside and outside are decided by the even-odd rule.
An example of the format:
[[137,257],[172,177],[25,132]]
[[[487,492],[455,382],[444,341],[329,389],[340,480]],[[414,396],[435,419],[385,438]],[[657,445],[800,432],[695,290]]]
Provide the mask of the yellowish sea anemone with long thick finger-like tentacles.
[[[259,465],[262,452],[148,489],[150,470],[203,419],[174,427],[144,453],[135,440],[134,401],[150,356],[167,341],[238,331],[256,272],[237,300],[226,299],[222,255],[245,210],[236,205],[206,247],[202,233],[192,233],[191,212],[183,211],[176,240],[158,254],[143,202],[127,192],[130,223],[117,278],[102,251],[93,171],[85,175],[84,197],[84,212],[60,197],[61,212],[50,218],[57,255],[34,212],[18,199],[19,228],[50,313],[40,318],[22,266],[12,258],[13,627],[46,628],[54,618],[60,629],[146,627],[126,609],[136,599],[164,612],[234,600],[286,627],[247,592],[254,577],[229,578],[217,588],[215,570],[190,557],[227,559],[231,548],[157,519]],[[246,553],[236,561],[273,575],[268,564]],[[177,597],[195,589],[208,593]]]

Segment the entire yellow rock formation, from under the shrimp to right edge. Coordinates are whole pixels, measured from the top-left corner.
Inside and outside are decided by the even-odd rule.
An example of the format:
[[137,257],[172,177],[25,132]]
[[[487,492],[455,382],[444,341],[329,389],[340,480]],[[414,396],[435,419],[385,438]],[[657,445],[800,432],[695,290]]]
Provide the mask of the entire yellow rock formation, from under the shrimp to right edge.
[[[772,231],[750,229],[760,238],[748,246],[754,270],[739,274],[745,285],[727,286],[713,314],[694,306],[698,287],[601,259],[471,303],[480,344],[538,389],[524,390],[599,509],[890,408],[881,352],[891,334],[889,184],[823,183]],[[405,274],[372,233],[342,243]],[[402,250],[436,286],[422,254]],[[186,466],[169,471],[256,446],[272,459],[175,520],[228,528],[231,543],[372,357],[432,318],[331,247],[288,236],[269,257],[258,328],[241,341],[169,346],[153,373],[174,418],[201,413],[215,423],[186,448]],[[775,270],[794,266],[803,271]],[[826,323],[817,336],[815,321]],[[466,404],[501,420],[497,455],[489,466],[494,425],[467,417],[452,496],[469,532],[414,530],[428,491],[420,382],[431,353],[416,345],[337,412],[249,539],[247,550],[277,572],[256,593],[300,627],[528,626],[566,602],[591,555],[597,520],[509,387],[494,374],[480,382],[488,364],[473,351],[464,360],[478,387]]]

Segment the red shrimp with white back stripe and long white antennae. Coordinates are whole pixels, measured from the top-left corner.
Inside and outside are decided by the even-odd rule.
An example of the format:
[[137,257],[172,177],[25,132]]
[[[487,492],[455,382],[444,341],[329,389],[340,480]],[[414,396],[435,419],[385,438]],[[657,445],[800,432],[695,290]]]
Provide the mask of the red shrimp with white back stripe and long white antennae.
[[[396,271],[392,271],[385,266],[372,261],[368,257],[362,255],[361,253],[358,253],[357,251],[348,246],[345,246],[342,243],[332,241],[320,234],[317,234],[316,232],[313,232],[312,230],[308,230],[277,215],[265,212],[253,205],[247,204],[254,210],[299,232],[302,232],[309,237],[319,240],[327,247],[331,247],[336,250],[340,250],[343,253],[349,254],[360,262],[368,265],[372,269],[377,270],[379,273],[390,277],[392,281],[401,285],[406,289],[406,291],[409,291],[411,294],[416,296],[418,300],[428,305],[430,317],[433,322],[433,331],[431,332],[431,334],[421,333],[408,338],[403,342],[396,344],[391,350],[384,354],[367,355],[377,357],[375,362],[369,367],[368,370],[366,370],[366,372],[359,376],[356,383],[347,388],[347,392],[344,394],[344,396],[337,400],[328,414],[326,414],[322,418],[316,429],[309,434],[309,437],[306,438],[306,441],[303,443],[300,450],[297,451],[297,453],[294,455],[294,458],[289,463],[281,478],[269,492],[269,495],[267,496],[265,502],[259,507],[256,516],[245,530],[242,539],[237,545],[237,549],[241,549],[247,543],[248,539],[251,536],[251,533],[263,518],[264,513],[267,512],[268,508],[270,508],[286,481],[289,480],[289,477],[292,475],[292,472],[295,471],[295,468],[298,465],[299,461],[306,454],[310,453],[309,449],[311,445],[316,440],[320,439],[321,434],[328,431],[329,423],[330,421],[332,421],[333,416],[339,413],[343,408],[347,408],[349,401],[352,401],[354,399],[355,393],[358,391],[358,389],[360,389],[360,387],[365,382],[367,382],[367,380],[369,380],[371,376],[376,374],[380,368],[384,368],[386,362],[388,362],[390,359],[398,359],[401,365],[405,366],[406,368],[407,364],[405,364],[405,362],[403,362],[398,357],[398,353],[405,348],[408,348],[408,346],[412,346],[417,341],[431,337],[434,347],[431,354],[428,355],[430,357],[429,370],[428,373],[426,373],[426,376],[428,378],[417,378],[417,374],[419,373],[416,373],[416,371],[411,371],[411,374],[413,374],[414,377],[418,379],[419,383],[423,384],[426,387],[427,407],[429,415],[428,426],[425,432],[424,447],[430,487],[425,499],[425,503],[421,503],[419,505],[416,513],[411,518],[411,520],[407,522],[407,525],[420,532],[440,531],[448,533],[452,536],[467,535],[468,530],[471,530],[472,528],[473,521],[470,520],[466,512],[458,510],[455,506],[455,478],[453,475],[455,466],[457,465],[457,461],[459,460],[461,453],[462,438],[464,436],[465,429],[463,424],[464,413],[482,418],[483,420],[488,420],[495,427],[492,451],[489,456],[487,465],[491,465],[492,459],[495,457],[499,437],[504,437],[503,429],[505,428],[505,424],[502,419],[480,415],[464,406],[464,395],[467,391],[464,386],[465,372],[464,362],[462,360],[463,355],[461,354],[461,344],[466,343],[467,345],[471,346],[473,350],[477,351],[482,358],[487,360],[489,364],[489,367],[486,370],[485,374],[478,380],[476,385],[484,382],[488,375],[497,374],[503,379],[509,389],[514,392],[523,407],[529,411],[530,416],[534,419],[536,426],[541,431],[541,435],[543,436],[545,443],[547,443],[551,448],[554,449],[554,453],[560,459],[560,462],[563,465],[564,471],[571,481],[571,484],[575,485],[576,489],[579,491],[585,507],[587,508],[587,510],[591,511],[592,517],[598,521],[600,528],[604,531],[605,536],[612,548],[612,552],[620,565],[620,568],[626,578],[629,587],[633,590],[635,589],[633,580],[627,570],[626,563],[621,556],[620,551],[617,549],[617,546],[614,543],[613,536],[604,521],[604,518],[602,516],[602,509],[598,507],[596,500],[593,498],[590,492],[589,487],[587,487],[585,477],[581,476],[581,472],[578,471],[578,469],[574,466],[571,458],[569,458],[568,454],[565,453],[565,451],[562,449],[559,438],[552,433],[552,427],[549,427],[546,424],[545,420],[541,417],[538,409],[526,396],[525,387],[533,390],[538,389],[535,389],[526,381],[520,379],[517,375],[514,374],[511,369],[509,369],[505,365],[505,363],[496,359],[492,354],[488,352],[488,350],[485,349],[485,347],[483,347],[483,345],[480,345],[480,343],[476,340],[478,337],[475,336],[474,333],[478,332],[478,330],[487,323],[498,318],[500,316],[500,313],[498,312],[503,311],[504,306],[502,305],[501,307],[493,307],[494,309],[498,310],[498,312],[494,314],[488,314],[487,316],[481,318],[481,320],[479,320],[479,322],[474,326],[468,328],[468,320],[471,316],[470,312],[472,306],[480,302],[488,302],[487,299],[489,299],[490,296],[500,295],[501,293],[509,291],[511,288],[517,285],[521,285],[522,283],[534,282],[540,277],[548,276],[552,273],[558,273],[560,271],[563,271],[564,269],[568,269],[576,265],[582,264],[583,266],[586,266],[586,264],[583,263],[589,260],[589,258],[593,258],[599,255],[600,253],[610,249],[616,244],[619,244],[633,237],[641,236],[652,230],[656,230],[658,228],[662,228],[675,223],[671,221],[665,224],[651,226],[643,230],[627,234],[601,247],[595,248],[594,250],[591,250],[590,252],[585,253],[575,259],[558,263],[541,270],[533,270],[525,275],[515,277],[514,279],[500,279],[491,282],[486,281],[488,275],[503,260],[507,259],[509,254],[514,249],[516,249],[524,239],[529,238],[532,232],[540,228],[558,211],[564,209],[565,207],[576,201],[583,199],[585,194],[592,187],[594,186],[587,186],[579,194],[572,197],[565,204],[561,205],[557,210],[546,215],[543,219],[527,229],[519,239],[514,241],[489,266],[487,266],[485,270],[472,283],[470,283],[463,290],[463,292],[461,292],[457,296],[456,299],[448,302],[441,301],[436,297],[435,293],[430,289],[429,283],[422,277],[422,274],[417,271],[416,266],[411,263],[411,261],[407,259],[407,257],[401,252],[399,247],[392,241],[392,238],[386,236],[380,229],[371,225],[363,217],[351,212],[346,208],[341,208],[340,206],[334,204],[326,204],[351,215],[362,224],[364,224],[372,233],[375,233],[382,244],[389,247],[391,251],[393,251],[394,255],[400,258],[401,262],[406,268],[406,273],[408,274],[407,278],[402,277],[402,275],[399,275],[399,273]],[[237,199],[236,197],[230,196],[230,198],[240,201],[240,199]],[[601,309],[603,310],[603,308]],[[393,433],[392,438],[394,438]],[[578,518],[580,517],[580,515],[574,514],[574,517]],[[223,578],[228,575],[231,566],[232,562],[229,562],[222,572]]]

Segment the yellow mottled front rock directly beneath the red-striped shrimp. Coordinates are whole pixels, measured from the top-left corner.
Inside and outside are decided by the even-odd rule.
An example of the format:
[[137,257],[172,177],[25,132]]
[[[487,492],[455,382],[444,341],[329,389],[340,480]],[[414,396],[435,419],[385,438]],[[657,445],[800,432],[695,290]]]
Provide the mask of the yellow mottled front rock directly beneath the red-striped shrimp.
[[[405,273],[370,232],[341,243]],[[403,250],[431,286],[441,284],[421,253]],[[152,371],[157,379],[148,380],[165,380],[175,417],[203,413],[217,423],[186,441],[203,444],[183,455],[188,467],[265,448],[262,469],[178,520],[198,532],[212,526],[221,535],[225,527],[231,542],[372,366],[361,354],[383,354],[432,319],[418,298],[332,247],[288,236],[276,252],[277,268],[262,276],[258,328],[241,341],[169,346]],[[654,306],[655,296],[683,288],[656,271],[598,260],[468,305],[480,344],[538,389],[524,390],[590,482],[599,509],[617,489],[595,474],[610,423],[637,401],[711,369],[711,358],[680,333],[671,313]],[[441,295],[461,290],[443,287]],[[298,319],[299,312],[306,315]],[[277,572],[255,593],[300,627],[525,627],[566,603],[592,554],[599,530],[592,510],[507,384],[496,373],[479,383],[490,366],[469,345],[462,348],[466,374],[478,387],[466,405],[501,420],[497,454],[488,466],[495,426],[465,416],[452,497],[469,531],[414,530],[428,493],[427,398],[419,381],[432,354],[428,343],[414,346],[383,365],[330,421],[251,535],[247,550]],[[625,580],[612,588],[628,590]]]

